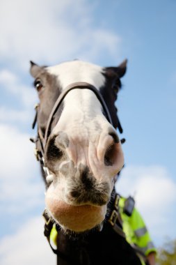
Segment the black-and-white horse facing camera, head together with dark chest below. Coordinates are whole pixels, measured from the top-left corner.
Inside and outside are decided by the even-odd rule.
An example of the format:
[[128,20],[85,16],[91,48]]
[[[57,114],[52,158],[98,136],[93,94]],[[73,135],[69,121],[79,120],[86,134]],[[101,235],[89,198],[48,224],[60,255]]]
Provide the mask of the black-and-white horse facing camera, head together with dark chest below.
[[45,236],[53,224],[60,265],[141,264],[118,213],[115,176],[124,165],[115,101],[127,60],[118,67],[86,61],[38,66],[35,156],[46,185]]

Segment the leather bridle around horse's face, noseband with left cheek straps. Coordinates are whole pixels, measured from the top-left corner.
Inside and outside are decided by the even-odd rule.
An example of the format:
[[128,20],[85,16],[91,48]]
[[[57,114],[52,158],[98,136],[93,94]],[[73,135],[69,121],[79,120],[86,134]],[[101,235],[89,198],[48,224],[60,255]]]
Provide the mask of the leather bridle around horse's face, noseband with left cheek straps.
[[[51,110],[51,113],[49,115],[49,119],[47,121],[47,128],[45,130],[45,136],[43,137],[42,130],[41,130],[40,126],[38,126],[38,135],[37,135],[36,139],[31,138],[31,142],[35,143],[35,150],[34,150],[35,156],[36,156],[37,160],[40,161],[40,165],[42,166],[42,169],[45,172],[46,178],[47,178],[47,176],[49,176],[49,169],[45,165],[44,156],[45,156],[45,148],[47,146],[47,140],[48,140],[50,132],[51,132],[51,123],[53,121],[54,114],[56,114],[58,108],[61,106],[61,103],[63,103],[65,96],[67,96],[67,93],[69,93],[73,89],[89,89],[89,90],[93,91],[95,93],[95,95],[97,96],[99,102],[102,105],[104,116],[106,116],[106,119],[113,126],[113,122],[111,119],[111,115],[109,113],[109,109],[106,106],[106,103],[104,101],[104,98],[102,97],[102,94],[98,91],[98,89],[96,89],[95,86],[93,86],[92,84],[89,84],[87,82],[74,82],[74,83],[66,86],[66,88],[62,91],[62,93],[58,96],[58,99],[56,100],[56,103],[54,104],[54,107]],[[35,128],[35,124],[37,123],[37,120],[38,120],[38,108],[39,108],[39,105],[36,105],[35,106],[35,110],[36,110],[35,119],[33,121],[33,126],[32,126],[33,128]],[[122,126],[120,125],[119,119],[118,119],[118,129],[120,130],[120,133],[122,133]],[[121,142],[122,142],[122,140],[121,140]]]

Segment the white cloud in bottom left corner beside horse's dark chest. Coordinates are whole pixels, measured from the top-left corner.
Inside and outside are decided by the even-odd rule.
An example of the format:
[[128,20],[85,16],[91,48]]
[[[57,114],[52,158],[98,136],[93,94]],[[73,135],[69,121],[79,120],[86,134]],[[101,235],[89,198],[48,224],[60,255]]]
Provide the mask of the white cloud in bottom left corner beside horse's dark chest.
[[51,251],[43,229],[42,217],[37,217],[22,225],[15,234],[1,239],[1,265],[56,264],[56,255]]

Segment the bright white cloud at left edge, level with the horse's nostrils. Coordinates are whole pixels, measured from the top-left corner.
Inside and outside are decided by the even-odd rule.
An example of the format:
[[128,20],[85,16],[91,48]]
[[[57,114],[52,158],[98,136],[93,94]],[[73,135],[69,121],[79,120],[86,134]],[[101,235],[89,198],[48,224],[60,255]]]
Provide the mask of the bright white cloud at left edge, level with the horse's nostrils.
[[29,178],[30,165],[33,164],[33,147],[29,135],[19,132],[12,126],[0,124],[1,178]]

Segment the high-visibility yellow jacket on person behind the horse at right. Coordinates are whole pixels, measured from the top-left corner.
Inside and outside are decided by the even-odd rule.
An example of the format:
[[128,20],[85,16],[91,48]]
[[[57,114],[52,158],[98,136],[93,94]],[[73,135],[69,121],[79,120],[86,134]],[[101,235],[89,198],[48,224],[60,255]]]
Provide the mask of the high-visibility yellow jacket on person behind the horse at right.
[[125,201],[126,198],[120,197],[119,211],[120,217],[122,218],[123,232],[125,232],[127,241],[132,245],[136,245],[138,250],[143,252],[145,256],[150,252],[157,252],[152,243],[150,234],[147,231],[145,222],[136,208],[134,207],[131,216],[128,216],[123,212]]

